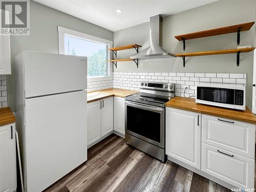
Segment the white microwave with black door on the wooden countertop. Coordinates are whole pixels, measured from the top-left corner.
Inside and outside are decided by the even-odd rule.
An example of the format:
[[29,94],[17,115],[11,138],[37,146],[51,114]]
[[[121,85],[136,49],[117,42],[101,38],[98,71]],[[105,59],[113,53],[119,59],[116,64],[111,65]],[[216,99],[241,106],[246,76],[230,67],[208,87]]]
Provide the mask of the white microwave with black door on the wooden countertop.
[[236,110],[246,109],[245,86],[237,84],[199,83],[196,102]]

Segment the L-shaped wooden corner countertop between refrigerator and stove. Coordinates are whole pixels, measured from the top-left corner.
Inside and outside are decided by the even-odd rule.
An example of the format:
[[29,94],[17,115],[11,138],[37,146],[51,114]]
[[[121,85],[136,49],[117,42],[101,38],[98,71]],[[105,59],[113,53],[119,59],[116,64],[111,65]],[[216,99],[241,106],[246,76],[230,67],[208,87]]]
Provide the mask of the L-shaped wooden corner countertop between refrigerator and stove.
[[135,93],[138,93],[138,91],[116,89],[116,88],[92,91],[87,93],[87,103],[108,98],[108,97],[113,97],[113,96],[124,98],[126,96],[129,96]]

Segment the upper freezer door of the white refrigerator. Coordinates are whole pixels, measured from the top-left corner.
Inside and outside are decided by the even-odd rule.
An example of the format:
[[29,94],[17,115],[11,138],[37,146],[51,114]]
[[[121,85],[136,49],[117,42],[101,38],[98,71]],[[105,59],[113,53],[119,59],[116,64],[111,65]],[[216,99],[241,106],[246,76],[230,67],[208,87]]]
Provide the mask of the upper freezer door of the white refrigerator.
[[25,97],[87,89],[87,57],[25,51]]

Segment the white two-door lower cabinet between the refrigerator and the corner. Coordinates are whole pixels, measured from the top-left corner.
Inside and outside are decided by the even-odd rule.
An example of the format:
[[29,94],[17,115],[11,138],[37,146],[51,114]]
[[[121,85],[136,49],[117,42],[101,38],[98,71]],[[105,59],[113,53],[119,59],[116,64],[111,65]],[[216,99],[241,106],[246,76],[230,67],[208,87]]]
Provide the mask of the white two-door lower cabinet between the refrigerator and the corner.
[[87,105],[87,145],[113,131],[113,97]]

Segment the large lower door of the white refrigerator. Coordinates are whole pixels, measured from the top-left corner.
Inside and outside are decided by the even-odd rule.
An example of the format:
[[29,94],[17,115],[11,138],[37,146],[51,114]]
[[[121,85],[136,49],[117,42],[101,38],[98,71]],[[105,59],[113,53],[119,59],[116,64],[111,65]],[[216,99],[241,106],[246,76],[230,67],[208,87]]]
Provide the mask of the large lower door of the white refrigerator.
[[87,91],[26,99],[26,191],[42,191],[87,160]]

